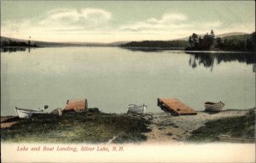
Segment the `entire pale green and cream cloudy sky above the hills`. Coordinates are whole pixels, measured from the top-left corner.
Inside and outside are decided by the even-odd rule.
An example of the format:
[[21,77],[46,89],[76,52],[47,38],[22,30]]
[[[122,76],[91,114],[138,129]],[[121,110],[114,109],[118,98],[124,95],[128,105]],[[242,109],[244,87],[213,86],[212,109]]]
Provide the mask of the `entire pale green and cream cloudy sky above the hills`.
[[254,1],[1,0],[1,36],[48,42],[173,40],[255,31]]

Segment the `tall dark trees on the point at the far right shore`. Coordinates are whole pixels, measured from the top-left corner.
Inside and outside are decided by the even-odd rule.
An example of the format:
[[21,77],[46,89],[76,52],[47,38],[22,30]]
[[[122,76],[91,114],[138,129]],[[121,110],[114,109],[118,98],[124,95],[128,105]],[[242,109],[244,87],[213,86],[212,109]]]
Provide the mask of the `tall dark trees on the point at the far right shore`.
[[189,36],[189,47],[186,50],[224,50],[253,51],[255,50],[255,31],[241,37],[215,37],[214,31],[203,37],[196,33]]

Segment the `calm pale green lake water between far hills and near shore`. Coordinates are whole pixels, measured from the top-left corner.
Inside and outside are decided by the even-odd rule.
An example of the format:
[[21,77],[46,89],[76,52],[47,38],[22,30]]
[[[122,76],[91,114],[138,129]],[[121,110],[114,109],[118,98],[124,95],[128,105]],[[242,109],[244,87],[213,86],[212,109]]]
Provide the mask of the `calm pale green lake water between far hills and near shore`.
[[249,109],[255,106],[255,73],[252,56],[245,55],[124,48],[1,53],[1,115],[15,115],[15,106],[63,109],[73,98],[87,98],[90,108],[109,113],[125,113],[128,104],[160,112],[161,97],[178,98],[195,110],[220,100],[225,110]]

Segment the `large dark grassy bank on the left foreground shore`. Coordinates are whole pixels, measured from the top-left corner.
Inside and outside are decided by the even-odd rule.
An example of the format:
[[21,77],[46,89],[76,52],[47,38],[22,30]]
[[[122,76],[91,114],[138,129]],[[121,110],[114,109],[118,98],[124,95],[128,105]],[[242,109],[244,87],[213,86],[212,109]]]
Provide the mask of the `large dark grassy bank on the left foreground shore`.
[[43,143],[129,143],[146,141],[147,121],[101,112],[36,115],[1,128],[1,141]]

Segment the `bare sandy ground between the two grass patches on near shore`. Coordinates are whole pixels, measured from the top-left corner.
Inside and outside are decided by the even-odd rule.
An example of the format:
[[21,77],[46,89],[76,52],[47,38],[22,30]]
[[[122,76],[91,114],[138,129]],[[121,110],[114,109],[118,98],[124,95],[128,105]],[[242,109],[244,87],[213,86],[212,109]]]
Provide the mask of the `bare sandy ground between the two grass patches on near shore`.
[[172,116],[166,113],[150,114],[153,116],[149,128],[152,132],[146,133],[148,143],[174,143],[183,141],[195,129],[204,126],[207,121],[225,117],[242,116],[248,110],[224,110],[216,114],[198,112],[197,115]]

